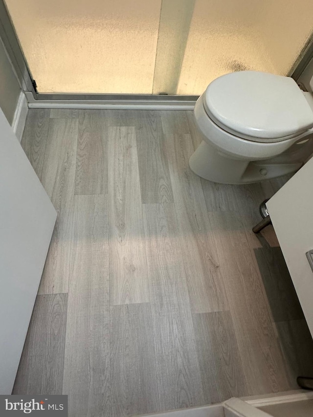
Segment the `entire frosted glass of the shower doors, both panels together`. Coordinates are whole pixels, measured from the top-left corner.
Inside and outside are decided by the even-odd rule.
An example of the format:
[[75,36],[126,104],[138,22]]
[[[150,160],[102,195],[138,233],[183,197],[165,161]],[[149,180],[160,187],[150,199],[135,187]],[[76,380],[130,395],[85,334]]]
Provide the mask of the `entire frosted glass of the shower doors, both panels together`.
[[5,0],[39,92],[198,95],[227,72],[291,74],[312,0]]

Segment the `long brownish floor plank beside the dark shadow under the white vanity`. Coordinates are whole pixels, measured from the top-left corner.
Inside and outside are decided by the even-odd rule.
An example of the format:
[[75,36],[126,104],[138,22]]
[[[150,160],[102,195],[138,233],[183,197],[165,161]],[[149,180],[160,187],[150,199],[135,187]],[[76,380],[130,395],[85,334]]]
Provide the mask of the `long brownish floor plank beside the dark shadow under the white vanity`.
[[210,221],[249,394],[288,390],[268,300],[239,214],[215,212]]

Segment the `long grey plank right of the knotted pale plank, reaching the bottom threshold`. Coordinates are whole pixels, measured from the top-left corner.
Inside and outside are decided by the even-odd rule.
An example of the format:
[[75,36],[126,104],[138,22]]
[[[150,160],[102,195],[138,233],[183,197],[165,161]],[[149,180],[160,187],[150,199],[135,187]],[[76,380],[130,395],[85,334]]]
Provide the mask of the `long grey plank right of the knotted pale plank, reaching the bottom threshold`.
[[173,204],[143,206],[160,410],[204,404]]

